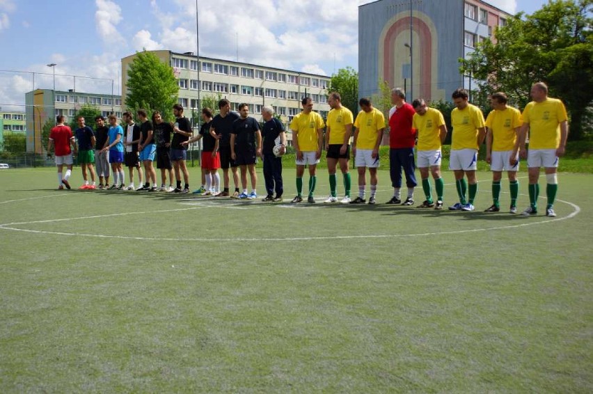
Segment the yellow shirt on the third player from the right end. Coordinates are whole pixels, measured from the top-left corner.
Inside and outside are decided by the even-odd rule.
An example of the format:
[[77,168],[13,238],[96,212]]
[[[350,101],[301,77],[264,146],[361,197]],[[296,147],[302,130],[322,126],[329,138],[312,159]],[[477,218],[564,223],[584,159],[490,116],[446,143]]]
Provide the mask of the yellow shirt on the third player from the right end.
[[479,149],[477,129],[484,127],[484,114],[473,104],[451,111],[451,149]]

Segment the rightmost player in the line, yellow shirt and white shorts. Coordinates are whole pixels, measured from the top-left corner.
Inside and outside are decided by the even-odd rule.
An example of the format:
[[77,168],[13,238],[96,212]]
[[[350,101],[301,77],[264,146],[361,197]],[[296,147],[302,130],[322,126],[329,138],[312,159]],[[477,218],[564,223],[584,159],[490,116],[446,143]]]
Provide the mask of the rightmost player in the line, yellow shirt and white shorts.
[[[568,116],[564,104],[548,97],[548,86],[537,82],[531,87],[532,102],[523,109],[523,126],[519,138],[521,157],[527,156],[529,173],[530,206],[523,215],[537,214],[539,195],[539,168],[546,172],[546,216],[555,217],[554,200],[558,192],[558,158],[564,156],[568,137]],[[529,130],[529,153],[525,151],[525,139]]]

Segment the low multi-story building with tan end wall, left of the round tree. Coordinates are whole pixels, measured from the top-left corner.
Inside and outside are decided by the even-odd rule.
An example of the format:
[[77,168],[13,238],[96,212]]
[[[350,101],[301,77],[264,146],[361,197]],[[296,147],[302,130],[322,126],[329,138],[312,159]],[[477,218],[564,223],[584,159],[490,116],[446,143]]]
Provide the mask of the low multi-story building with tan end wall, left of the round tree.
[[81,93],[74,90],[60,91],[37,89],[25,93],[26,105],[26,150],[42,153],[41,130],[47,119],[54,120],[63,115],[66,122],[76,116],[84,105],[92,105],[101,111],[103,116],[115,113],[122,115],[122,99],[120,95],[104,95],[98,93]]

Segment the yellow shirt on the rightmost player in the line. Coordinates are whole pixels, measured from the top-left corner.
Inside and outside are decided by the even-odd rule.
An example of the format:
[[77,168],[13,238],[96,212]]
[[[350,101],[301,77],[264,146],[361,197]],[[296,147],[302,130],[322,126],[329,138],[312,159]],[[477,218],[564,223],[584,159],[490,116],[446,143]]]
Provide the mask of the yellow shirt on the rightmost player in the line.
[[529,148],[556,149],[560,145],[560,123],[568,120],[567,110],[558,99],[532,101],[523,109],[523,122],[529,123]]

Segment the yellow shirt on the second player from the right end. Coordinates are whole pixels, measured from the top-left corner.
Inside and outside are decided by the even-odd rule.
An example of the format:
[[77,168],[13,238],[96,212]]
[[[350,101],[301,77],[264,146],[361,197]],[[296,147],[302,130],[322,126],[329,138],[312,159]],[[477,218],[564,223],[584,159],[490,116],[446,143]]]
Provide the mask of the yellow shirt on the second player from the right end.
[[486,118],[486,127],[492,133],[492,150],[500,152],[513,150],[517,140],[515,129],[523,125],[519,109],[507,107],[503,111],[494,109]]

